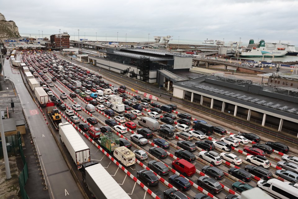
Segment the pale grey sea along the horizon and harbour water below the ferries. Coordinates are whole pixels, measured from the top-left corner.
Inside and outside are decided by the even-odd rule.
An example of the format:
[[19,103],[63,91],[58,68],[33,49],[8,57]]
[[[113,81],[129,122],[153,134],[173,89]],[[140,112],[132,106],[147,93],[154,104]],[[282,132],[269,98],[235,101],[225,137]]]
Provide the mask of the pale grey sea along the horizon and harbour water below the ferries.
[[[70,34],[70,33],[69,33]],[[37,38],[43,38],[43,37],[47,37],[50,39],[50,35],[52,34],[30,34],[30,33],[20,33],[21,36],[31,36],[31,37],[35,37]],[[80,35],[71,35],[70,34],[70,40],[79,40],[79,39],[88,39],[88,41],[107,41],[107,42],[146,42],[148,41],[148,37],[129,37],[125,35],[120,36],[109,36],[109,35],[84,35],[84,34],[80,34]],[[204,39],[205,40],[205,39]],[[194,45],[210,45],[210,44],[203,44],[202,42],[204,42],[204,40],[193,40],[193,39],[178,39],[178,38],[173,38],[173,40],[170,40],[169,43],[170,44],[194,44]],[[149,42],[153,42],[154,38],[153,37],[149,37]],[[225,42],[225,45],[229,45],[229,42]],[[248,43],[241,43],[241,45],[248,45]],[[295,46],[296,51],[298,51],[298,47]],[[255,58],[249,58],[251,60],[254,61],[261,61],[262,58],[259,57],[255,57]],[[267,60],[271,60],[272,58],[264,58],[264,61]],[[278,57],[278,58],[274,58],[273,61],[282,61],[282,62],[291,62],[291,61],[298,61],[298,56],[286,56],[286,57]]]

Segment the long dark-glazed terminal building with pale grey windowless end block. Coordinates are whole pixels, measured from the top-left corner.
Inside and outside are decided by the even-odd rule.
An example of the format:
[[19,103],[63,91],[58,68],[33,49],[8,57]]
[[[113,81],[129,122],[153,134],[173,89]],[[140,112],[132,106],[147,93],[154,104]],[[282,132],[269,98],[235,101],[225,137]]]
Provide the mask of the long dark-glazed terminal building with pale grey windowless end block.
[[[106,49],[88,55],[88,62],[149,83],[157,82],[158,70],[189,70],[192,56],[141,49]],[[164,80],[164,78],[162,78]]]

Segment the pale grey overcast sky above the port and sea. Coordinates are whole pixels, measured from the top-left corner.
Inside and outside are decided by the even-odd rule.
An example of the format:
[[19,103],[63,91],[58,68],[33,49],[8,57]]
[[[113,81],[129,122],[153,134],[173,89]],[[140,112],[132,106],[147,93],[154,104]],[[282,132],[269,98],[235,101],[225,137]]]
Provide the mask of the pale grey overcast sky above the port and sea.
[[2,2],[0,12],[20,33],[218,39],[298,44],[298,1],[84,0]]

